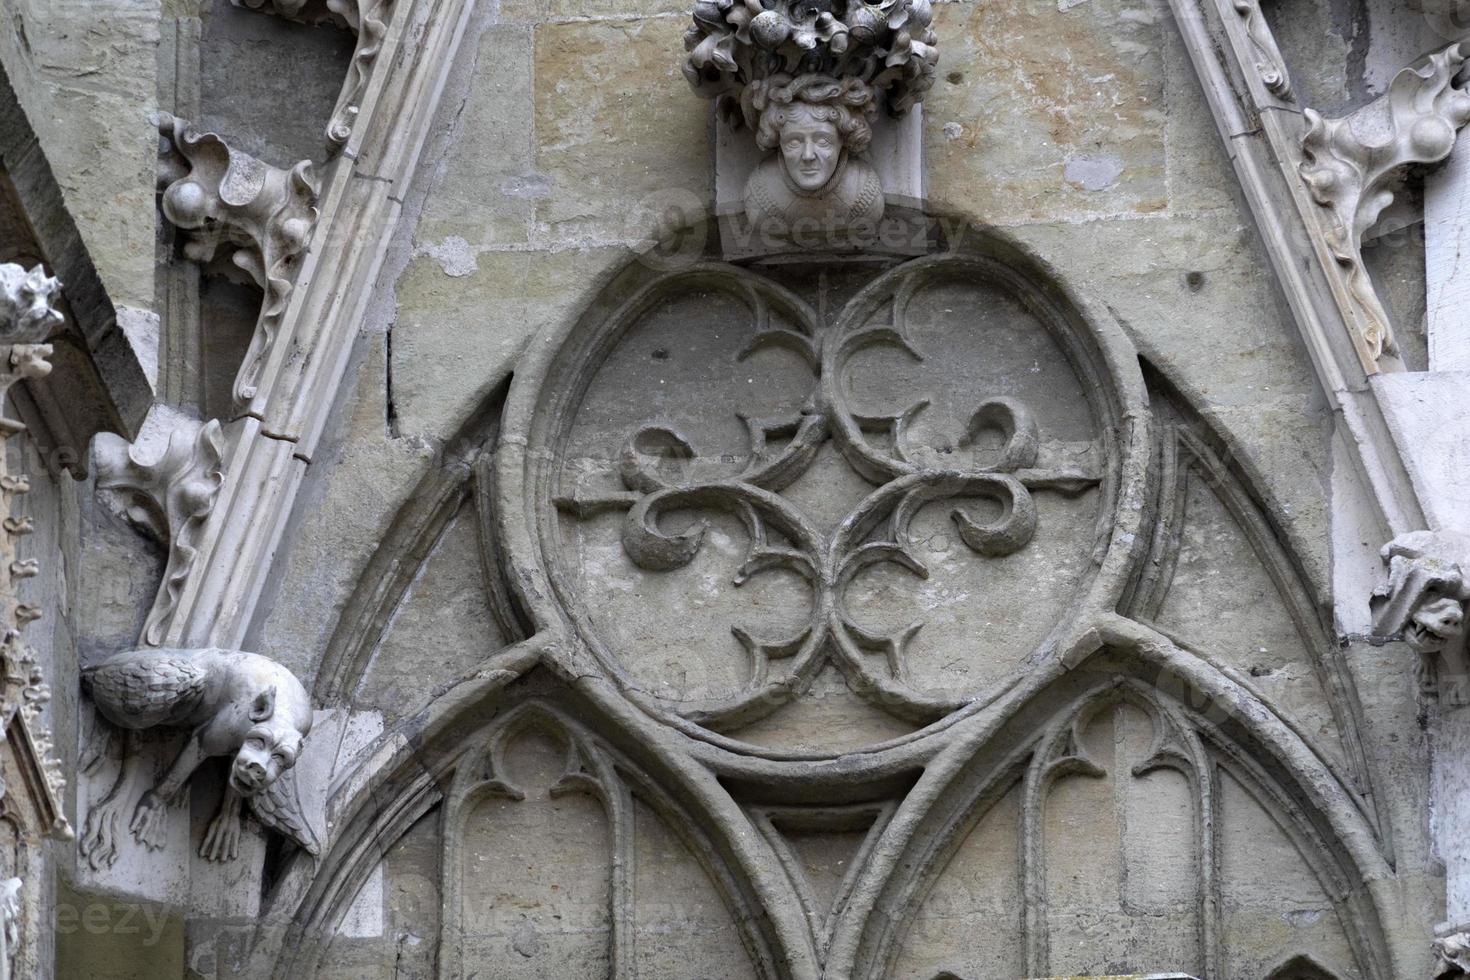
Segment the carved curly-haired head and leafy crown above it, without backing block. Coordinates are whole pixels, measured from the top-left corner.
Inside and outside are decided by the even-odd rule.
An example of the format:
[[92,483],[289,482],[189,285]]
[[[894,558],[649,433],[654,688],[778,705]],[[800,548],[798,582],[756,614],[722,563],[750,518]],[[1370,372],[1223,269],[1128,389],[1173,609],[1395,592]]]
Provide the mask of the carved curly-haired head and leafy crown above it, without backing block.
[[745,215],[789,232],[876,223],[883,192],[863,160],[881,106],[903,115],[939,60],[929,0],[700,0],[684,75],[772,154],[745,185]]

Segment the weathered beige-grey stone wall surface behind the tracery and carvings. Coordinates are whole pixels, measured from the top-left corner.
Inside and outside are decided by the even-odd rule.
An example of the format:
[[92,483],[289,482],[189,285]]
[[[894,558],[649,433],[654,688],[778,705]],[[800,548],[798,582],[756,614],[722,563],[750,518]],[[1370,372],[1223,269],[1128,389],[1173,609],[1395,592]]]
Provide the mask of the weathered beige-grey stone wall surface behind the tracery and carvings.
[[[219,0],[200,9],[7,1],[0,59],[59,165],[68,204],[118,304],[160,314],[169,309],[157,298],[168,289],[156,289],[156,272],[168,264],[154,263],[156,132],[147,120],[160,103],[190,109],[201,129],[219,131],[276,166],[300,159],[338,166],[328,162],[320,135],[351,54],[351,37],[337,28],[290,24]],[[882,933],[886,945],[851,954],[864,976],[1020,976],[1026,958],[1017,908],[1030,879],[1017,871],[1016,855],[1023,833],[1035,833],[1051,848],[1054,870],[1041,886],[1050,911],[1032,930],[1050,930],[1057,970],[1188,968],[1213,977],[1188,912],[1202,874],[1195,814],[1208,807],[1220,829],[1208,861],[1219,876],[1219,927],[1230,951],[1220,976],[1264,977],[1289,951],[1311,952],[1330,976],[1391,976],[1391,968],[1401,971],[1392,976],[1427,976],[1427,929],[1442,908],[1444,883],[1427,836],[1420,692],[1402,645],[1344,645],[1332,629],[1333,508],[1341,517],[1344,507],[1332,495],[1332,410],[1177,26],[1155,0],[938,4],[942,63],[923,107],[928,210],[956,250],[979,247],[994,231],[1033,256],[1070,295],[1117,320],[1142,359],[1154,417],[1167,433],[1179,433],[1161,438],[1158,458],[1177,454],[1170,458],[1179,473],[1188,472],[1155,476],[1147,501],[1135,501],[1147,514],[1148,535],[1169,525],[1158,536],[1173,535],[1172,544],[1151,554],[1167,555],[1160,564],[1172,577],[1161,579],[1155,595],[1133,597],[1129,613],[1176,638],[1182,649],[1198,651],[1220,676],[1288,718],[1283,726],[1317,754],[1313,764],[1349,788],[1338,808],[1323,804],[1298,818],[1292,807],[1305,810],[1307,796],[1313,805],[1322,799],[1244,768],[1222,777],[1219,798],[1205,802],[1197,801],[1200,773],[1139,773],[1182,717],[1170,713],[1172,702],[1141,695],[1088,708],[1094,714],[1076,723],[1080,745],[1072,748],[1105,760],[1107,771],[1060,782],[1054,796],[1036,790],[1051,802],[1039,829],[1025,830],[1023,814],[1039,813],[1026,799],[1030,783],[1019,776],[983,783],[980,773],[1005,768],[1004,746],[1072,717],[1073,699],[1094,696],[1091,683],[1135,676],[1136,651],[1114,651],[1111,660],[1100,657],[1058,677],[1014,717],[998,710],[1000,748],[975,748],[975,735],[963,749],[976,752],[967,763],[975,774],[913,796],[933,808],[929,823],[919,826],[913,817],[910,839],[929,848],[923,852],[906,851],[919,845],[903,837],[882,846],[872,840],[888,821],[908,818],[901,804],[920,777],[938,782],[931,773],[963,752],[936,760],[895,749],[891,764],[850,773],[844,782],[844,765],[854,773],[861,765],[841,761],[842,752],[861,757],[867,752],[860,749],[903,742],[923,724],[866,702],[836,669],[819,673],[791,713],[726,726],[722,736],[744,743],[732,754],[757,758],[739,764],[710,748],[723,745],[713,736],[675,736],[637,710],[617,707],[610,682],[578,686],[584,674],[597,673],[591,669],[579,673],[563,664],[498,691],[514,671],[487,667],[488,658],[525,638],[523,623],[495,592],[506,588],[507,574],[523,570],[497,567],[504,560],[495,541],[500,526],[485,511],[495,492],[488,467],[506,386],[525,369],[534,338],[569,328],[588,309],[606,313],[660,270],[654,259],[639,257],[650,241],[682,226],[707,234],[711,251],[717,245],[716,225],[706,223],[714,206],[714,125],[709,104],[688,91],[679,72],[686,6],[501,0],[478,4],[469,18],[360,325],[348,383],[310,458],[245,642],[291,669],[319,699],[319,732],[303,771],[316,783],[318,799],[328,789],[341,793],[334,796],[331,818],[341,821],[334,833],[351,821],[370,823],[412,796],[392,795],[400,782],[413,782],[404,773],[432,773],[435,788],[404,805],[404,826],[372,839],[381,862],[368,862],[359,874],[343,871],[338,857],[323,861],[323,876],[345,882],[341,907],[331,907],[345,914],[312,921],[304,939],[291,934],[282,945],[319,946],[316,976],[344,980],[435,976],[453,965],[450,948],[466,962],[494,962],[494,976],[570,980],[609,974],[609,936],[626,927],[614,923],[620,914],[642,937],[626,954],[638,976],[704,976],[698,970],[706,968],[709,976],[781,976],[797,968],[772,959],[781,943],[761,932],[764,926],[750,924],[761,905],[747,892],[770,901],[788,889],[806,904],[775,902],[775,917],[811,920],[817,936],[826,909],[836,904],[839,912],[848,901],[870,902],[878,918],[901,926]],[[1398,24],[1398,9],[1324,3],[1269,13],[1288,60],[1301,68],[1304,103],[1327,113],[1382,91],[1427,37],[1419,24],[1383,26]],[[1413,216],[1398,228],[1404,234],[1382,239],[1370,263],[1405,338],[1405,360],[1423,363],[1421,244]],[[857,270],[756,267],[831,319],[864,281],[894,264],[886,257]],[[229,385],[254,316],[256,294],[223,282],[220,272],[206,269],[198,287],[194,316],[207,338],[204,381],[198,403],[182,406],[204,417],[234,410]],[[734,425],[714,389],[745,370],[745,361],[726,350],[729,336],[698,339],[717,338],[728,311],[704,294],[691,295],[676,316],[638,328],[647,331],[639,338],[657,341],[648,339],[653,353],[639,348],[609,369],[612,381],[603,383],[613,394],[578,422],[584,428],[576,438],[594,447],[587,460],[614,457],[622,430],[613,429],[641,419],[645,404],[662,406],[694,430],[720,433]],[[944,316],[970,309],[966,304],[1004,309],[989,294],[945,294],[935,309],[926,307],[933,320],[929,339],[944,344]],[[1016,350],[1033,356],[1036,375],[1061,363],[1050,348]],[[958,363],[961,347],[954,351]],[[1042,403],[1063,428],[1082,432],[1098,422],[1086,411],[1094,392],[1088,379],[1053,383],[1042,375],[1041,383],[1020,361],[997,367],[1000,357],[969,353],[975,360],[963,370],[935,369],[942,392],[983,379]],[[726,361],[739,366],[722,367]],[[660,372],[676,385],[682,379],[684,389],[659,394]],[[817,511],[870,489],[836,475],[836,453],[826,453],[797,491]],[[437,494],[448,502],[428,513]],[[85,658],[134,642],[162,566],[116,514],[82,497],[78,504],[78,491],[66,485],[35,504],[46,510],[44,520],[56,520],[47,547],[68,555],[68,570],[56,574],[72,576],[51,580],[46,592],[56,608],[49,655],[62,674],[75,670],[76,651]],[[941,621],[926,626],[916,649],[932,667],[933,686],[972,692],[978,679],[997,680],[1017,664],[994,655],[956,667],[953,661],[967,655],[957,651],[976,638],[1039,644],[1048,623],[1036,619],[1036,607],[1070,608],[1070,592],[1091,566],[1085,555],[1070,555],[1076,542],[1055,529],[1088,538],[1092,498],[1083,500],[1082,516],[1061,505],[1044,510],[1044,525],[1057,536],[1038,539],[1036,564],[1005,572],[954,572],[960,563],[948,545],[933,544],[947,541],[948,525],[925,526],[932,548],[926,554],[939,555],[933,560],[942,569],[920,594],[920,611]],[[828,516],[833,523],[841,517]],[[616,529],[617,520],[603,519],[594,530],[557,533],[581,563],[573,579],[582,605],[598,621],[622,617],[623,632],[612,633],[642,657],[631,667],[632,689],[692,698],[739,685],[741,645],[728,630],[756,591],[753,583],[734,599],[728,595],[741,557],[731,544],[741,538],[739,522],[711,525],[710,538],[723,551],[689,579],[673,572],[657,579],[634,567]],[[1336,533],[1344,533],[1341,520]],[[1361,547],[1376,548],[1379,535],[1364,526]],[[375,561],[384,557],[394,563],[390,572],[401,579],[401,595],[365,611],[363,595],[376,588],[373,576],[384,574]],[[126,586],[118,585],[123,580]],[[864,588],[863,607],[889,619],[908,608],[914,594],[900,574]],[[776,604],[782,595],[773,589],[756,604]],[[1127,645],[1120,638],[1108,644]],[[1208,701],[1200,689],[1183,688],[1183,702]],[[484,707],[472,711],[466,705],[475,698]],[[1254,735],[1247,738],[1201,704],[1195,708],[1222,726],[1222,743],[1266,758]],[[434,727],[454,711],[463,714],[444,721],[445,730]],[[53,713],[69,733],[87,714],[72,688]],[[375,742],[384,730],[409,748]],[[1180,738],[1205,752],[1204,736]],[[484,771],[445,761],[450,745],[481,739]],[[78,751],[78,736],[68,735],[69,763]],[[341,801],[360,799],[354,793],[362,790],[344,786],[348,773],[370,751],[398,751],[412,761],[394,768],[379,758],[372,779],[388,786],[376,796],[378,788],[363,790],[372,798],[363,810],[344,810]],[[1066,751],[1058,742],[1057,758]],[[823,761],[779,774],[772,758],[784,752]],[[728,767],[725,789],[703,770],[694,774],[701,765],[695,758],[716,757]],[[579,760],[573,776],[591,776],[563,792],[567,758]],[[1267,776],[1285,767],[1273,757]],[[476,782],[491,777],[503,785],[487,789]],[[729,795],[720,795],[726,789]],[[523,804],[513,802],[516,792],[525,793]],[[215,793],[218,780],[201,780],[175,835],[191,832],[191,851]],[[904,805],[917,810],[919,802]],[[620,815],[609,817],[614,810]],[[1322,813],[1329,810],[1357,813],[1352,826],[1372,840],[1333,839],[1347,824],[1327,826]],[[736,840],[731,829],[738,824],[759,833]],[[265,857],[260,835],[250,833],[251,860],[269,861],[272,876],[288,867],[276,851]],[[617,835],[632,836],[614,843]],[[638,868],[629,886],[637,901],[609,898],[610,889],[623,887],[609,871],[614,851],[619,862]],[[1366,874],[1358,865],[1348,873],[1347,861],[1335,864],[1344,851],[1372,852],[1382,862]],[[295,895],[291,889],[304,893],[312,871],[298,861],[285,879],[263,883],[254,868],[218,871],[184,854],[171,852],[168,864],[181,880],[193,876],[194,893],[138,884],[156,899],[148,909],[171,915],[157,946],[140,952],[137,937],[60,934],[56,976],[265,976],[262,961],[250,958],[248,929],[257,912],[281,912],[281,896]],[[856,879],[848,868],[867,861],[911,864],[911,889],[850,895],[845,889]],[[760,865],[778,883],[750,884],[731,871],[736,865]],[[147,867],[134,865],[129,874],[147,877],[140,871]],[[63,905],[93,901],[75,884],[66,858],[59,868]],[[781,884],[782,876],[791,883]],[[103,887],[96,879],[91,884]],[[1382,939],[1358,934],[1369,893],[1377,901]],[[188,973],[175,973],[185,970],[185,927],[175,915],[191,920]],[[976,934],[994,934],[995,942],[978,951]],[[1361,952],[1355,943],[1379,942],[1391,951],[1392,967],[1373,956],[1354,964],[1354,951]],[[138,973],[140,958],[153,973]]]

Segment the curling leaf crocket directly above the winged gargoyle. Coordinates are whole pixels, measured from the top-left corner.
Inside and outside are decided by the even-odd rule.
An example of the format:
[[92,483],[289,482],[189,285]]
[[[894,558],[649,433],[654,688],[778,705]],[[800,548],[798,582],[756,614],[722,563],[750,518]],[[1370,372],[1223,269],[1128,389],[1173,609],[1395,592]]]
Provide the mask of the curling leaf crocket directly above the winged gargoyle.
[[143,642],[163,642],[179,591],[198,558],[200,538],[223,485],[225,439],[218,419],[181,419],[156,460],[112,433],[93,444],[97,491],[121,502],[128,522],[168,548],[159,595],[143,624]]

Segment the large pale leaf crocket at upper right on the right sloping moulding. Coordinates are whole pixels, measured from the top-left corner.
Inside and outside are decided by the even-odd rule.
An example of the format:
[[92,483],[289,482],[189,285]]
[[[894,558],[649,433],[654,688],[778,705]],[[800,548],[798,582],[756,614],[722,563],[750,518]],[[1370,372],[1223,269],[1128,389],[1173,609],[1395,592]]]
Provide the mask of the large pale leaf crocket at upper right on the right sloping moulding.
[[1326,238],[1358,314],[1360,344],[1373,360],[1396,353],[1388,313],[1363,264],[1363,237],[1398,192],[1410,165],[1438,163],[1470,120],[1470,94],[1455,76],[1470,56],[1457,41],[1402,69],[1388,91],[1341,119],[1304,110],[1301,175],[1324,209]]

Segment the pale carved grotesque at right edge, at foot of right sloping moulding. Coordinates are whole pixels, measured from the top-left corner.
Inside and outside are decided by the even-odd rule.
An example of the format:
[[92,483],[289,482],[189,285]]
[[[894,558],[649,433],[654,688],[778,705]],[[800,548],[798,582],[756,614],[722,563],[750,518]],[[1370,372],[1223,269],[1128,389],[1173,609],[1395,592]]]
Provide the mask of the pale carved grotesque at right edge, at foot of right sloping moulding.
[[1402,639],[1421,655],[1420,680],[1441,698],[1464,704],[1466,604],[1470,602],[1470,535],[1414,530],[1383,548],[1386,580],[1373,592],[1373,635]]

